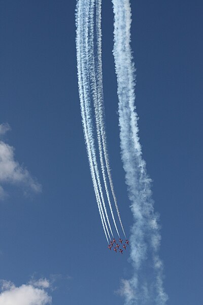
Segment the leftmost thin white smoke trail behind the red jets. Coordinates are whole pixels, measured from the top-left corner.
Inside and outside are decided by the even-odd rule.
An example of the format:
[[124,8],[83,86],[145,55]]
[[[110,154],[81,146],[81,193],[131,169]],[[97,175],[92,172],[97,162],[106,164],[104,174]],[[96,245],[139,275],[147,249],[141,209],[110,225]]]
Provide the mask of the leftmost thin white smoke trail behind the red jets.
[[[106,220],[104,217],[104,212],[103,212],[103,207],[100,202],[100,196],[99,196],[99,191],[98,191],[98,186],[97,186],[97,181],[95,177],[95,169],[94,169],[94,164],[92,160],[92,143],[90,143],[89,139],[89,131],[91,125],[88,122],[88,119],[90,117],[86,113],[85,109],[85,101],[87,97],[85,96],[85,90],[84,90],[84,85],[86,85],[84,79],[83,79],[83,74],[84,74],[84,54],[83,54],[83,47],[84,47],[84,26],[86,25],[87,27],[87,20],[84,22],[84,16],[85,16],[85,6],[84,2],[78,1],[77,2],[77,8],[76,8],[76,49],[77,49],[77,66],[78,66],[78,86],[79,86],[79,96],[80,96],[80,101],[81,101],[81,116],[82,116],[82,125],[83,125],[83,131],[84,131],[84,137],[85,137],[85,143],[86,143],[86,148],[87,148],[87,155],[88,155],[88,160],[89,160],[89,165],[90,165],[90,172],[92,176],[92,182],[93,182],[93,187],[94,187],[94,192],[96,196],[96,201],[99,209],[99,215],[101,218],[101,223],[103,225],[103,229],[105,231],[105,235],[107,238],[107,241],[109,243],[110,234],[108,231],[108,227],[106,224]],[[87,16],[87,14],[86,14]],[[105,223],[105,224],[104,224]],[[107,237],[107,232],[109,235],[109,239]]]

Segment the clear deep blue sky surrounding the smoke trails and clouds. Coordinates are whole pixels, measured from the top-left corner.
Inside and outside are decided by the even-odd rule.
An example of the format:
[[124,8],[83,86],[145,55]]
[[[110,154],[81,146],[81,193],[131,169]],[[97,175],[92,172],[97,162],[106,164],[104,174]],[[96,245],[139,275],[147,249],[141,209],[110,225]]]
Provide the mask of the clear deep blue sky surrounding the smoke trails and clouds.
[[[1,141],[14,147],[10,161],[28,171],[20,181],[0,181],[7,192],[0,203],[0,279],[31,287],[33,294],[40,288],[54,305],[123,304],[115,291],[131,266],[127,253],[107,249],[94,198],[78,96],[75,5],[0,2],[0,124],[11,127]],[[160,213],[164,288],[169,305],[200,305],[203,4],[139,0],[131,7],[140,141]],[[120,159],[112,49],[113,10],[104,1],[108,148],[128,235],[132,215]]]

